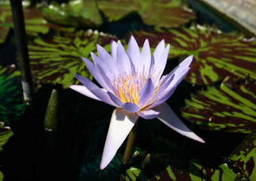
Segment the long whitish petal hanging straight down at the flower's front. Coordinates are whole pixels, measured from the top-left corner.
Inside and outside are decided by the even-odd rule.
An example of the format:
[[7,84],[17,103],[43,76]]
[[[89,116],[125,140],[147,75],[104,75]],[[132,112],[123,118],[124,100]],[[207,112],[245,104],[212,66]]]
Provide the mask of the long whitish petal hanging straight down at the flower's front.
[[125,110],[115,108],[105,142],[104,151],[100,163],[100,170],[106,168],[116,154],[118,148],[122,145],[132,127],[138,120],[136,113],[127,113]]

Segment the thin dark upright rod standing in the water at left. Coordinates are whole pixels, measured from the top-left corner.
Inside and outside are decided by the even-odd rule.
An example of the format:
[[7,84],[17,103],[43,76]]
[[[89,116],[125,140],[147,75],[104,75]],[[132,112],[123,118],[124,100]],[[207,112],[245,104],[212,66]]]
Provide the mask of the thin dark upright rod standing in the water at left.
[[33,83],[29,64],[28,45],[21,0],[10,0],[12,6],[12,18],[14,25],[15,40],[19,55],[19,67],[23,96],[26,105],[33,103]]

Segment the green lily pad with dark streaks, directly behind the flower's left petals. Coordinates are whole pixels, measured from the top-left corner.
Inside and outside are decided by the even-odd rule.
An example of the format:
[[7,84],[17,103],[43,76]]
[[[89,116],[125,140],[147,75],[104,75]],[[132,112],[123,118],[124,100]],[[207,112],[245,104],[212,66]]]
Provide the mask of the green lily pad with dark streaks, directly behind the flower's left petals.
[[92,80],[81,57],[92,60],[90,52],[96,51],[96,44],[110,52],[112,39],[92,30],[38,37],[28,45],[32,72],[43,83],[59,83],[63,88],[79,83],[74,73]]

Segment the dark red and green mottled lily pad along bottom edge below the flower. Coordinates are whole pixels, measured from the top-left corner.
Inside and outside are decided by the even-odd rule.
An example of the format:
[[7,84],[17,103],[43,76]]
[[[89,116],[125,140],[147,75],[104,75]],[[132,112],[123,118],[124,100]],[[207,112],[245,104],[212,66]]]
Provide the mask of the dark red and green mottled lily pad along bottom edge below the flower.
[[[148,159],[148,158],[147,158]],[[205,161],[191,159],[188,163],[163,157],[159,163],[148,163],[143,168],[131,166],[121,180],[236,180],[239,177],[228,165],[211,166]]]

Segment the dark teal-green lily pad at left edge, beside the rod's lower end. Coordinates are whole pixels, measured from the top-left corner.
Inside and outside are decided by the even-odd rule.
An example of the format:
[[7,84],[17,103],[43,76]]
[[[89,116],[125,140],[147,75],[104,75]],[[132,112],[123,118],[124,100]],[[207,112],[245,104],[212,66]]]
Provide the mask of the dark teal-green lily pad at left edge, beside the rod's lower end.
[[0,66],[0,121],[9,125],[10,120],[18,120],[24,108],[20,71]]

